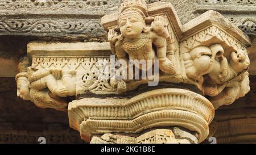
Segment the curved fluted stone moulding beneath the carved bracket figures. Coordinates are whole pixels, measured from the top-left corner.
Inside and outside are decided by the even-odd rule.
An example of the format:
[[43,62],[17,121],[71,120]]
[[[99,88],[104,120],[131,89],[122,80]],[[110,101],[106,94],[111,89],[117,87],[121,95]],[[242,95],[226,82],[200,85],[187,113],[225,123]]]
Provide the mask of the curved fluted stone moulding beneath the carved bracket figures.
[[161,89],[131,99],[74,100],[69,103],[68,115],[70,126],[80,131],[85,141],[90,141],[93,134],[140,133],[153,127],[180,126],[195,131],[201,142],[209,134],[208,124],[214,117],[214,107],[192,91]]

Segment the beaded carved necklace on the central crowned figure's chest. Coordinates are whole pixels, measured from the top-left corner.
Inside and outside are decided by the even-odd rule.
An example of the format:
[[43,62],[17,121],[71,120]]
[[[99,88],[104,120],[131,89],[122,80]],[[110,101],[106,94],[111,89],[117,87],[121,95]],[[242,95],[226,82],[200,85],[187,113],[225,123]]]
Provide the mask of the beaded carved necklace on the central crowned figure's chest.
[[149,39],[148,33],[142,33],[141,37],[137,41],[131,42],[125,39],[123,41],[123,47],[129,51],[137,51],[138,49],[145,47]]

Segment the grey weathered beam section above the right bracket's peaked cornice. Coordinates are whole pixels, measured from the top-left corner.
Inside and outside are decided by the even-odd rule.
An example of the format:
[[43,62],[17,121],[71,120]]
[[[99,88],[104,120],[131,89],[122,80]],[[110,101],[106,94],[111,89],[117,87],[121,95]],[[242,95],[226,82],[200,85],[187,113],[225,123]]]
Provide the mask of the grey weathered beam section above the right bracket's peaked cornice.
[[256,1],[175,1],[170,0],[181,18],[181,23],[185,24],[189,20],[196,18],[205,11],[214,10],[220,12],[231,22],[236,24],[247,35],[256,35]]

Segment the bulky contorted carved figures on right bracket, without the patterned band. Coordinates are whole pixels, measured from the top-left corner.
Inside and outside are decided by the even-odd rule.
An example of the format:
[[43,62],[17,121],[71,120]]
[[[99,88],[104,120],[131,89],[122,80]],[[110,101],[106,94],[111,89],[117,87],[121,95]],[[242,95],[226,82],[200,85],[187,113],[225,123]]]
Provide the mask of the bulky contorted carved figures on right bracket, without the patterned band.
[[244,51],[225,53],[221,44],[196,47],[184,55],[187,76],[203,85],[214,107],[233,103],[250,91],[250,60]]

